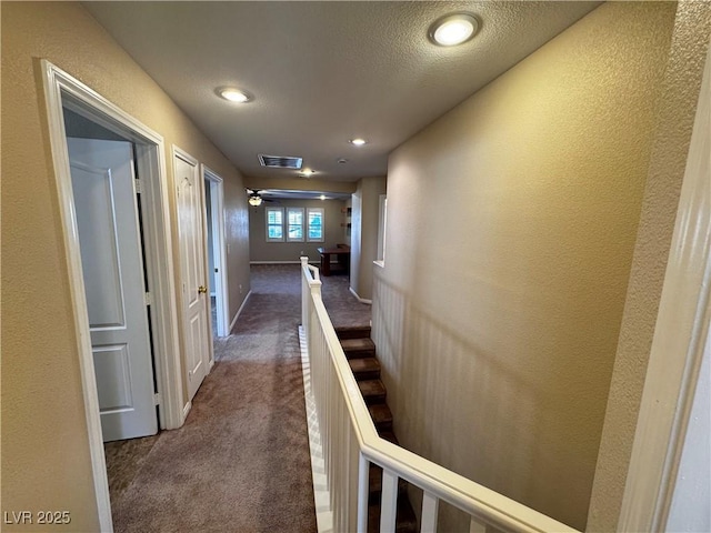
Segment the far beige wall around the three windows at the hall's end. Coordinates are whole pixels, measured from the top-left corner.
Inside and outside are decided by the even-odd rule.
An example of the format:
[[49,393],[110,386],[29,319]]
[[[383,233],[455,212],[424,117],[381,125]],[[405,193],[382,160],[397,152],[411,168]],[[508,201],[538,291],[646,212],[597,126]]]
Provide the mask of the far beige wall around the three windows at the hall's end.
[[[341,223],[346,214],[341,212],[346,203],[341,200],[280,200],[279,203],[262,203],[258,208],[249,208],[249,248],[251,261],[294,261],[299,262],[302,252],[311,262],[319,262],[317,248],[334,247],[343,242]],[[264,227],[266,208],[322,208],[324,222],[323,242],[267,242]]]

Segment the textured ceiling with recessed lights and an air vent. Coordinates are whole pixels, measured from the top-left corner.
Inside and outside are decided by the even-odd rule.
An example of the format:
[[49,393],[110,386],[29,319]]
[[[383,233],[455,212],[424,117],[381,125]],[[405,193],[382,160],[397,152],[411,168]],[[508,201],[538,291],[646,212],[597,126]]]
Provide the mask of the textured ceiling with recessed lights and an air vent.
[[[313,178],[384,175],[388,153],[600,2],[84,2],[246,175],[258,153]],[[474,13],[475,38],[440,48],[430,24]],[[254,95],[233,104],[216,89]],[[369,140],[357,148],[348,140]],[[342,164],[337,160],[348,159]]]

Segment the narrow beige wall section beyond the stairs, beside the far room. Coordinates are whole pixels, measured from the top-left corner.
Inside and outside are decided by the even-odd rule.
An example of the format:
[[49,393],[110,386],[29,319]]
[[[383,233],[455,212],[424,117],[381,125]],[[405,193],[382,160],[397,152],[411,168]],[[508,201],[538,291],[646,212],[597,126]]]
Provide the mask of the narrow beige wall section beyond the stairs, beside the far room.
[[372,299],[373,261],[378,259],[378,220],[380,194],[385,193],[385,178],[363,178],[358,182],[352,211],[351,289],[360,298]]

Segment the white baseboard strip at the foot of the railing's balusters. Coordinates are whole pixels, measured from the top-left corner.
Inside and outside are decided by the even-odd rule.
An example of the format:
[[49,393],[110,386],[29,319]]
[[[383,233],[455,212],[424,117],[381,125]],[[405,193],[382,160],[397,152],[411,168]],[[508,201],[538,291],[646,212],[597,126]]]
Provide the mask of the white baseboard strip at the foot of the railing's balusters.
[[311,476],[313,480],[313,502],[316,504],[316,527],[318,533],[333,532],[333,512],[331,495],[328,489],[321,430],[316,412],[313,392],[311,391],[311,363],[307,350],[307,338],[303,326],[299,326],[299,346],[301,349],[301,370],[303,372],[303,400],[307,406],[307,426],[309,429],[309,450],[311,451]]

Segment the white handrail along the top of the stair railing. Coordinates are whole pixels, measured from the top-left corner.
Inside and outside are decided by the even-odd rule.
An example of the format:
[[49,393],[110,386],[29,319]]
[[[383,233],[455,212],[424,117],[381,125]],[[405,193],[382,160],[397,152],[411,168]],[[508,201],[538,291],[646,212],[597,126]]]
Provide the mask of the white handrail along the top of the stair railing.
[[[316,275],[312,276],[312,272]],[[306,284],[309,286],[309,294],[303,294],[304,306],[306,302],[310,300],[308,303],[311,305],[318,319],[318,324],[322,330],[323,340],[336,371],[339,388],[346,400],[346,409],[354,438],[358,442],[361,460],[364,459],[372,462],[383,467],[385,472],[402,477],[409,483],[422,489],[425,495],[434,496],[437,500],[443,500],[454,505],[468,513],[479,526],[491,525],[502,531],[528,533],[573,533],[578,531],[380,438],[365,406],[363,396],[360,393],[356,378],[348,364],[333,324],[321,300],[321,282],[318,279],[318,269],[308,264],[308,258],[302,258],[302,274]],[[304,330],[307,330],[306,323],[308,323],[309,320],[306,316],[303,316],[303,322]],[[307,336],[309,336],[308,331]],[[309,358],[311,358],[311,352],[309,352]],[[312,370],[314,362],[311,361]],[[317,401],[317,410],[323,408],[324,406],[319,406]],[[368,482],[367,476],[363,480],[362,469],[359,482]],[[362,499],[363,487],[359,486],[358,492],[359,499]],[[365,519],[364,510],[367,510],[367,502],[359,501],[358,531],[365,530],[363,522]],[[437,513],[437,504],[434,504],[434,512]],[[434,524],[435,519],[437,515],[434,515]]]

